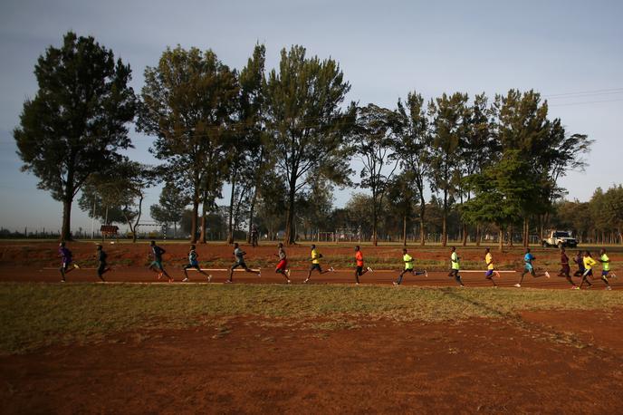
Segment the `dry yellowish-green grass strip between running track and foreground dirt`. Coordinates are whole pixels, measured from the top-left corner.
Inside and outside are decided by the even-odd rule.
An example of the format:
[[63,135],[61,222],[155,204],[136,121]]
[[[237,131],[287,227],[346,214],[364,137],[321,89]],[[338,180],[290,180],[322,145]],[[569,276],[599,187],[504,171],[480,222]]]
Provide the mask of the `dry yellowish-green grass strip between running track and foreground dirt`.
[[0,352],[97,341],[115,333],[218,326],[244,315],[328,330],[363,320],[513,320],[520,311],[610,310],[608,292],[339,285],[0,284]]

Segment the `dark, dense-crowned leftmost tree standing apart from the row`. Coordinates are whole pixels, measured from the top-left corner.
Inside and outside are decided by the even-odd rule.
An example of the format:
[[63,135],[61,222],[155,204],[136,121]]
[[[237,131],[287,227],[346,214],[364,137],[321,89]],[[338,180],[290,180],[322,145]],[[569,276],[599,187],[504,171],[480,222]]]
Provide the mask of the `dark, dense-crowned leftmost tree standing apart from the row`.
[[62,239],[71,239],[73,198],[91,173],[128,149],[128,123],[136,98],[128,86],[129,65],[115,62],[92,37],[68,32],[61,48],[50,46],[34,66],[39,90],[24,102],[13,132],[23,171],[38,188],[62,202]]

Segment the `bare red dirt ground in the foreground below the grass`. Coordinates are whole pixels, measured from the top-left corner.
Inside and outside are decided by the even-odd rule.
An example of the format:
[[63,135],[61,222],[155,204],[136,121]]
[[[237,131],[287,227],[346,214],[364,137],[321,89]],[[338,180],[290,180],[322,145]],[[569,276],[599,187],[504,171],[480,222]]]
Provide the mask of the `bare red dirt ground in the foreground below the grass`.
[[[581,321],[603,333],[551,341]],[[385,323],[131,333],[0,358],[2,413],[621,413],[623,323]],[[369,322],[362,321],[363,324]],[[549,324],[544,325],[543,323]],[[554,332],[555,333],[555,332]]]

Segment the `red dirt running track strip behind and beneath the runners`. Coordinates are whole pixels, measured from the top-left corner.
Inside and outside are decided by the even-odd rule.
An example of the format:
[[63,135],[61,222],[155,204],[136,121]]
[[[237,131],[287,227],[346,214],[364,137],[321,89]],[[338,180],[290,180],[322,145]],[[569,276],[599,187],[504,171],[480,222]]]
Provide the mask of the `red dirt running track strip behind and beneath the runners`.
[[[93,264],[95,246],[91,242],[73,242],[70,245],[74,259],[81,264],[83,261]],[[167,250],[164,256],[165,266],[168,272],[175,278],[176,282],[180,282],[184,278],[181,266],[186,263],[187,244],[165,244],[162,245]],[[254,262],[259,261],[264,264],[270,264],[270,267],[264,267],[262,277],[257,278],[256,275],[236,272],[234,279],[236,283],[283,283],[282,275],[274,274],[274,264],[276,263],[275,246],[243,246],[248,253],[247,263],[254,267]],[[106,279],[110,282],[155,282],[156,276],[149,272],[144,264],[147,263],[147,255],[149,246],[146,243],[141,244],[106,244],[105,249],[109,255],[109,261],[114,266],[114,271],[106,275]],[[367,258],[376,258],[379,261],[388,261],[396,263],[393,270],[376,270],[374,273],[363,275],[360,280],[362,284],[379,284],[389,285],[396,280],[401,271],[401,246],[364,246],[363,252]],[[409,253],[416,260],[446,260],[449,257],[447,248],[435,246],[409,246]],[[474,261],[475,264],[483,263],[484,246],[476,247],[458,247],[462,261]],[[292,246],[288,247],[289,261],[292,266],[292,282],[294,284],[302,283],[307,276],[309,266],[309,246]],[[321,253],[324,254],[322,266],[327,268],[331,265],[331,258],[340,257],[342,260],[350,262],[354,256],[354,250],[351,244],[344,246],[320,246]],[[558,264],[558,254],[556,249],[542,249],[534,247],[532,249],[537,258],[544,260],[550,258],[554,264]],[[197,245],[197,253],[202,261],[211,264],[210,268],[224,269],[230,265],[233,259],[232,247],[226,245]],[[343,259],[346,258],[346,259]],[[515,248],[512,252],[503,254],[494,252],[494,258],[498,264],[514,265],[515,270],[521,270],[522,248]],[[610,254],[610,260],[616,262],[621,260],[620,252]],[[60,280],[58,272],[59,258],[57,254],[57,244],[54,242],[14,242],[0,241],[0,281],[37,281],[37,282],[54,282]],[[537,261],[538,262],[538,261]],[[370,263],[369,265],[374,266]],[[541,264],[538,263],[537,266]],[[93,266],[93,265],[91,265]],[[416,267],[419,267],[416,265]],[[555,276],[559,266],[551,266],[551,278],[544,276],[533,279],[526,276],[523,282],[525,287],[534,288],[569,288],[570,285],[564,278]],[[598,267],[599,268],[599,267]],[[616,266],[615,266],[616,269]],[[413,276],[406,275],[403,281],[404,285],[419,286],[455,286],[455,281],[446,276],[445,272],[430,272],[428,278],[423,275]],[[209,274],[214,275],[214,282],[222,283],[225,281],[227,273],[224,271],[210,271]],[[335,273],[318,275],[314,273],[311,276],[313,284],[353,284],[354,268],[338,269]],[[623,274],[619,272],[619,274]],[[600,271],[596,273],[600,275]],[[192,282],[205,282],[202,275],[196,272],[190,272]],[[516,272],[503,273],[501,279],[496,279],[496,283],[500,286],[512,286],[518,282],[519,274]],[[491,286],[491,283],[484,280],[484,271],[462,273],[463,280],[467,286]],[[623,275],[621,275],[623,277]],[[96,281],[95,269],[81,269],[72,271],[67,277],[69,282],[88,282]],[[614,289],[623,289],[622,278],[613,278],[610,284]],[[579,278],[574,278],[576,283],[580,282]],[[593,289],[603,289],[604,285],[599,280],[595,281]]]

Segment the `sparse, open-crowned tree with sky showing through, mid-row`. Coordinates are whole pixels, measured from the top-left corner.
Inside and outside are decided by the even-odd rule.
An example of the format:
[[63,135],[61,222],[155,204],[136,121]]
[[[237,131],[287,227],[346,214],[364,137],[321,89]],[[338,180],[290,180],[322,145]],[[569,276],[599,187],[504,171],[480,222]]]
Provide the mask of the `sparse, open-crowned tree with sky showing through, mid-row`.
[[372,193],[372,244],[378,245],[379,213],[388,182],[398,168],[392,152],[394,137],[391,129],[391,111],[374,104],[359,109],[353,130],[353,146],[361,161],[359,173],[362,188]]

